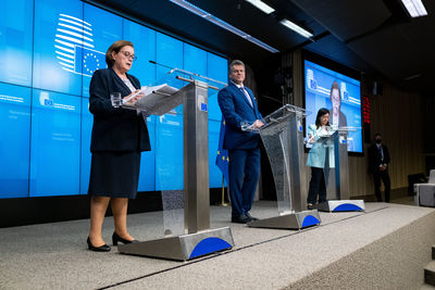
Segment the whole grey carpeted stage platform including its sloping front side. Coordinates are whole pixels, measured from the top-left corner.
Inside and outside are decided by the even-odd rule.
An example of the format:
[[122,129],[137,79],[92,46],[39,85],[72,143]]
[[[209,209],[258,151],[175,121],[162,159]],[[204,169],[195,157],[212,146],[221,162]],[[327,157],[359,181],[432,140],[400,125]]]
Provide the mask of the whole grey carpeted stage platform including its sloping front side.
[[[276,202],[251,213],[273,216]],[[369,202],[365,213],[320,215],[321,226],[303,230],[261,229],[229,224],[231,209],[212,206],[212,228],[231,225],[235,248],[188,262],[87,251],[88,219],[2,228],[0,289],[422,289],[434,209]],[[129,215],[129,231],[160,238],[162,218]]]

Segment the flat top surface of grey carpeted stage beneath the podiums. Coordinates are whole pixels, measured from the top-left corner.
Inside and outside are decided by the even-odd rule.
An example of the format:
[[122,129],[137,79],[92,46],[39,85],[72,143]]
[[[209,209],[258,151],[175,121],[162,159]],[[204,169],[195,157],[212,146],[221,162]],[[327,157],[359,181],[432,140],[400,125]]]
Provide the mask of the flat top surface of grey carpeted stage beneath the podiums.
[[[212,228],[229,225],[229,213],[212,206]],[[273,216],[276,202],[257,202],[251,213]],[[231,224],[233,250],[189,262],[122,255],[116,247],[87,251],[88,219],[3,228],[0,289],[281,289],[427,216],[433,209],[366,203],[365,213],[321,213],[322,225],[304,230]],[[162,237],[162,218],[129,215],[129,231],[139,240]],[[108,243],[112,231],[107,217]]]

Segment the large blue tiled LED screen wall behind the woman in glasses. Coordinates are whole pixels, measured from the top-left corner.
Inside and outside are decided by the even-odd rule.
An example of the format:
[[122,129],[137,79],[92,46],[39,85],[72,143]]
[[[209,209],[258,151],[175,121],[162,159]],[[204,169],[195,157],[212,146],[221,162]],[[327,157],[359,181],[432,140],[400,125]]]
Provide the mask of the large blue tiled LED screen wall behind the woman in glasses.
[[[79,0],[3,0],[0,11],[0,198],[86,194],[90,169],[89,83],[105,51],[126,39],[142,86],[170,68],[227,81],[227,60]],[[13,11],[14,13],[10,13]],[[210,187],[221,112],[209,90]],[[148,116],[152,151],[141,155],[139,191],[183,188],[183,108]],[[176,144],[176,146],[174,146]]]

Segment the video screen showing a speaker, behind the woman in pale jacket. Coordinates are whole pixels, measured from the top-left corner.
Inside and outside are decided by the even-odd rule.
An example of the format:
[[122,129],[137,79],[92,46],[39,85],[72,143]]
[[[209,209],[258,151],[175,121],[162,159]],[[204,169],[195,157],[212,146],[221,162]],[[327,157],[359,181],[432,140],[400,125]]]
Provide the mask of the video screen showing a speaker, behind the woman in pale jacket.
[[362,121],[360,81],[311,61],[304,60],[306,119],[315,123],[321,108],[330,110],[330,124],[348,128],[348,151],[362,153]]

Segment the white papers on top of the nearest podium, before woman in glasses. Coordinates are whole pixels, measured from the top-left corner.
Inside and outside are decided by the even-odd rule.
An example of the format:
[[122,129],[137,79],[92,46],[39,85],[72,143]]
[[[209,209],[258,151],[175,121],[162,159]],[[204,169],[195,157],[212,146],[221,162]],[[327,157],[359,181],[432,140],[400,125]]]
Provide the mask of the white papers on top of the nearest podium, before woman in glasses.
[[167,84],[142,87],[140,92],[144,92],[145,96],[135,102],[135,108],[145,111],[148,115],[163,115],[182,104],[182,98],[173,97],[177,91],[177,88],[171,87]]

